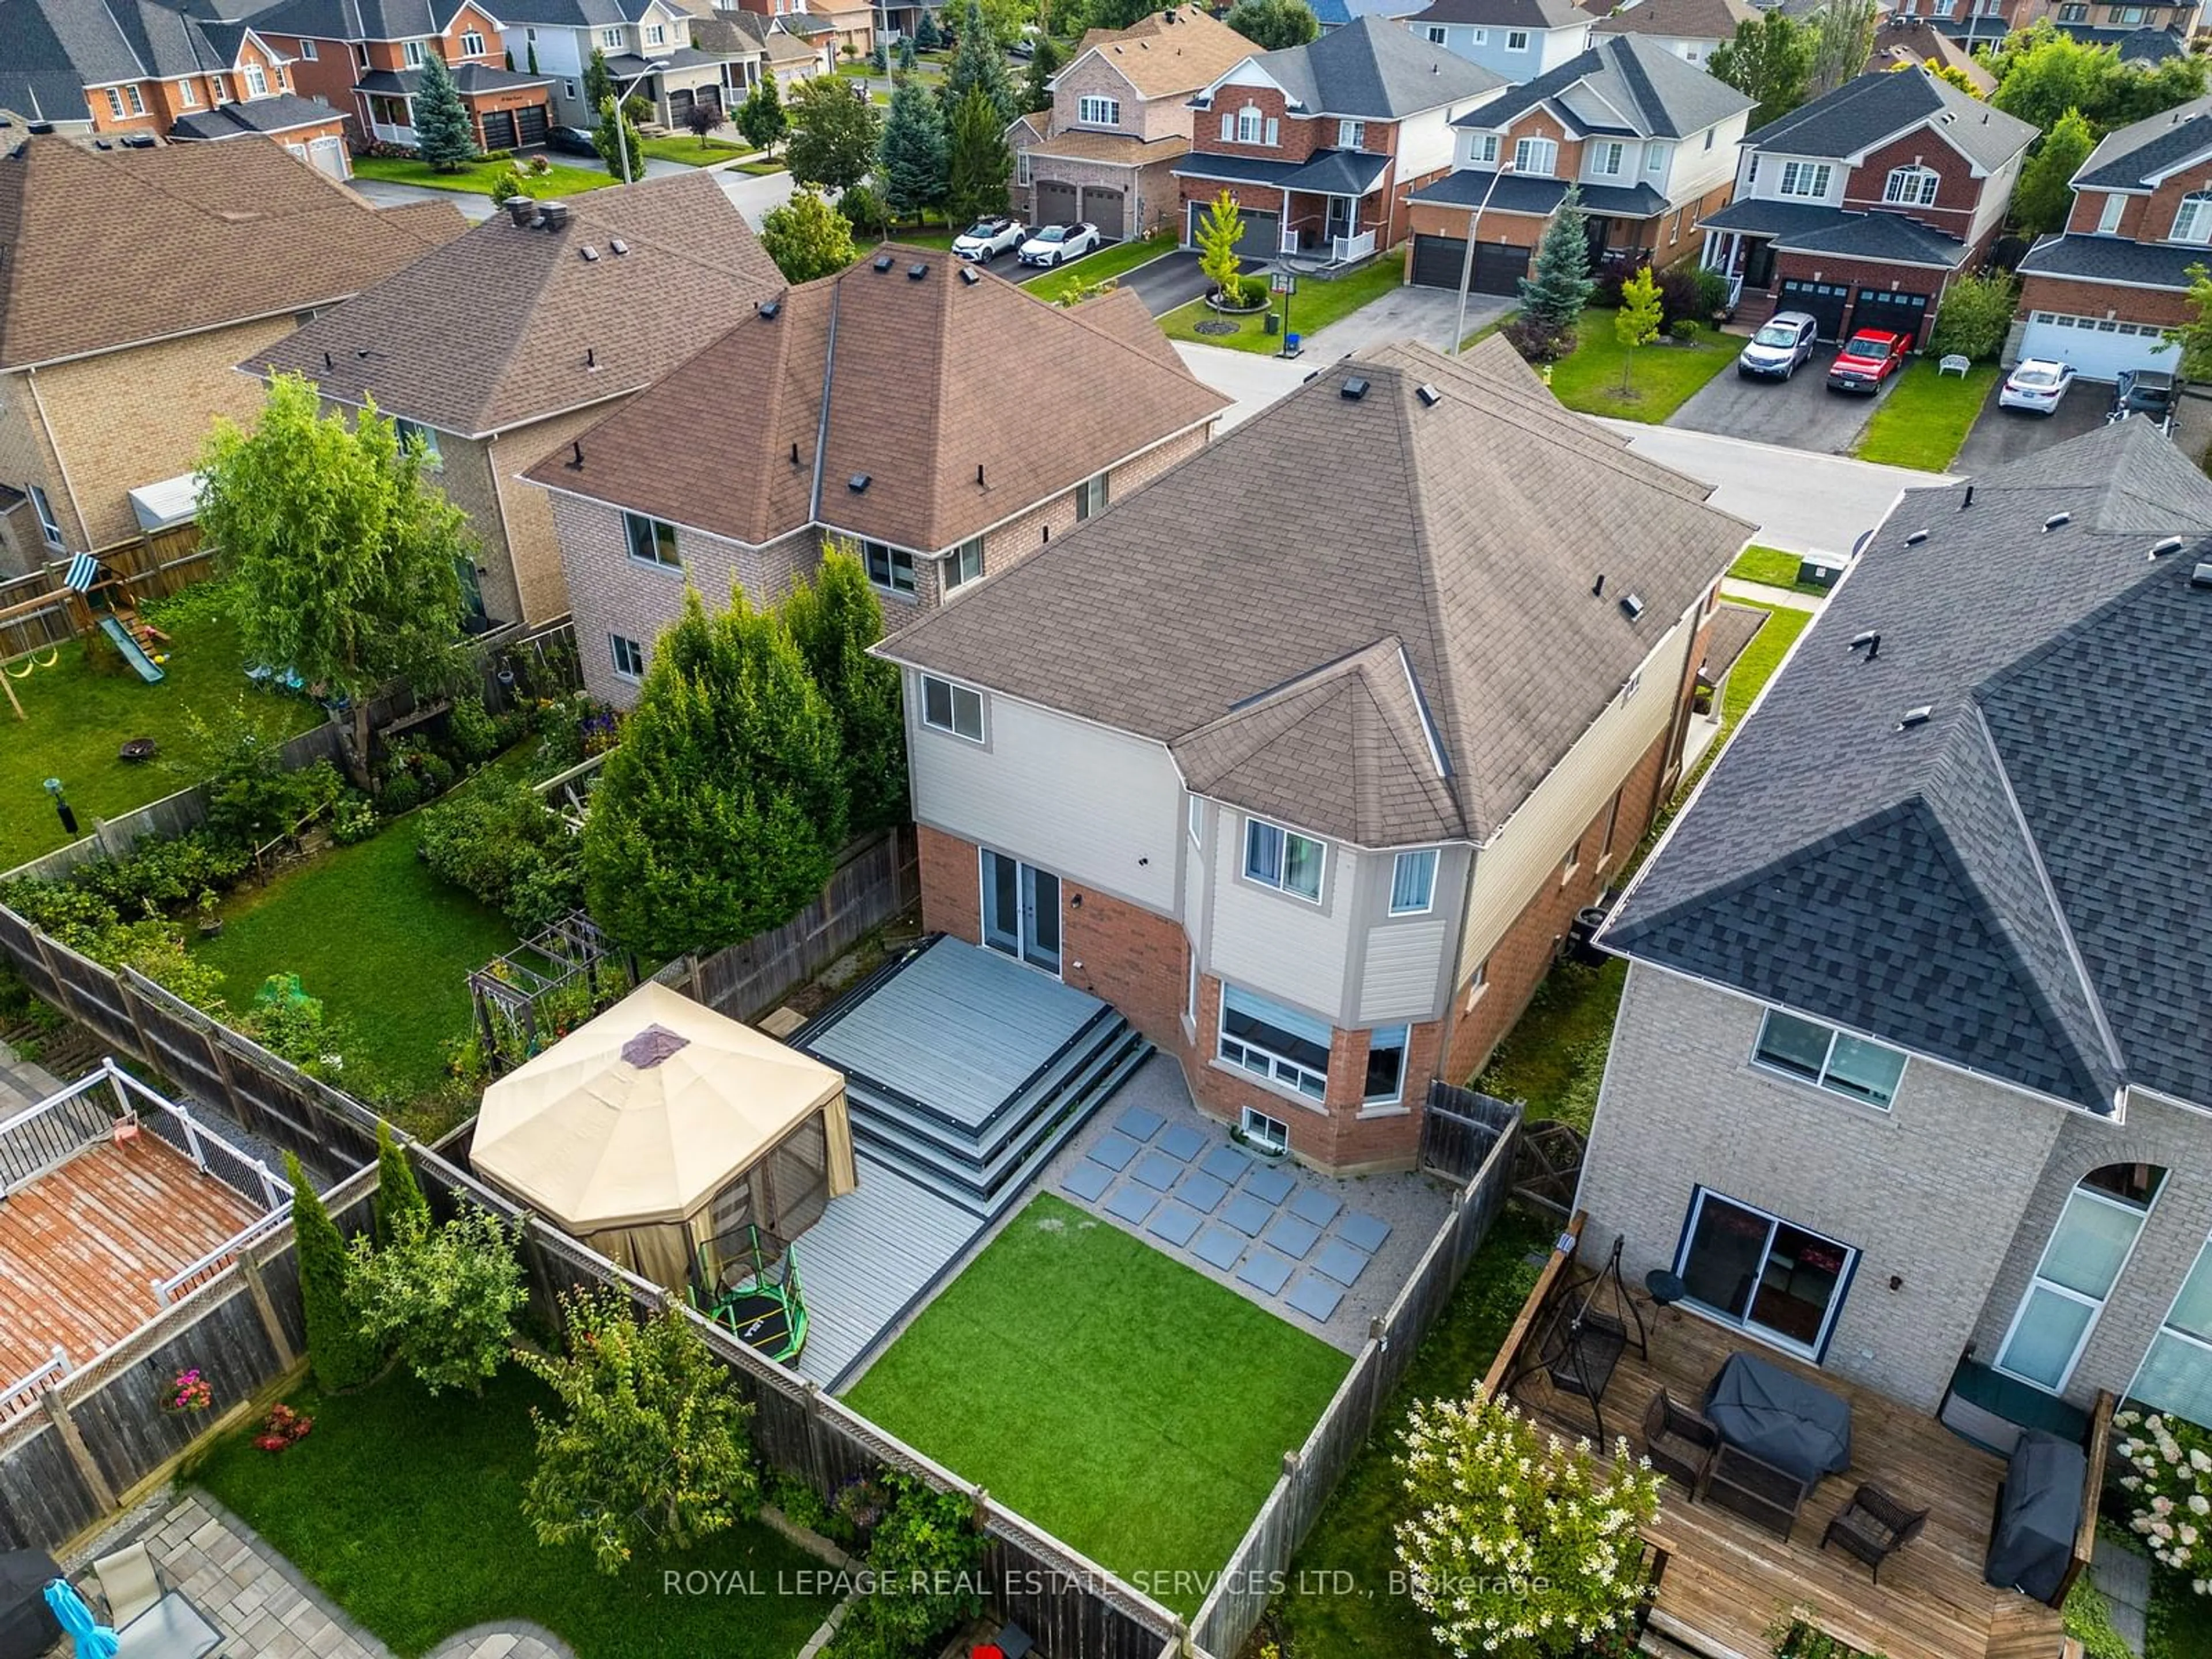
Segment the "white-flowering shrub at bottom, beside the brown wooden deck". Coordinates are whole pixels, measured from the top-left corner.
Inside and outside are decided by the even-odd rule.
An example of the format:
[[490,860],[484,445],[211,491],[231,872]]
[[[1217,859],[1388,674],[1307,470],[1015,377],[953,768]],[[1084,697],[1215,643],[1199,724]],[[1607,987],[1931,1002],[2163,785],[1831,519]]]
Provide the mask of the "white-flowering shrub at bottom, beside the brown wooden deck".
[[1659,1475],[1626,1440],[1606,1471],[1511,1400],[1427,1400],[1398,1467],[1413,1500],[1398,1559],[1449,1652],[1577,1655],[1635,1619]]

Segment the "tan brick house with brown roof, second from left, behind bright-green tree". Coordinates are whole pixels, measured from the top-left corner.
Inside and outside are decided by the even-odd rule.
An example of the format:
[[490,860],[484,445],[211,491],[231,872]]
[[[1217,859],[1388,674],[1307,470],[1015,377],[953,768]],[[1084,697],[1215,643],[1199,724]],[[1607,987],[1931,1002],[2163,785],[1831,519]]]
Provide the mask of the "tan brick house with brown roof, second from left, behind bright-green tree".
[[[478,626],[568,611],[553,515],[520,473],[783,288],[752,226],[703,173],[493,215],[272,349],[323,400],[376,407],[436,451],[469,513]],[[734,385],[692,420],[723,416]]]

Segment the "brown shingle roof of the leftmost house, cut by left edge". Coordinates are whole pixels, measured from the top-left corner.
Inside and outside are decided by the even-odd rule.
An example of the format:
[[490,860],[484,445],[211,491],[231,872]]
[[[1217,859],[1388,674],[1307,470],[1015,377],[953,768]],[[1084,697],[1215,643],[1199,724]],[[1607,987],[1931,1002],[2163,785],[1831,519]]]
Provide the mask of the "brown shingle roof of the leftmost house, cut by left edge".
[[279,144],[33,137],[0,157],[0,365],[330,305],[436,243]]

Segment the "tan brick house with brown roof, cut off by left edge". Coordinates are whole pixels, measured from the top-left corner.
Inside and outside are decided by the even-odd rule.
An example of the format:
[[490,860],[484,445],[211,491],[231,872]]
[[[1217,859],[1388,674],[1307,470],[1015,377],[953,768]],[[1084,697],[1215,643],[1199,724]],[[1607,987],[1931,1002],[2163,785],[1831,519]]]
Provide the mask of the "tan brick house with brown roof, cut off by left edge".
[[139,535],[137,489],[188,502],[208,422],[261,409],[241,356],[462,230],[445,204],[376,212],[274,144],[0,157],[0,562]]

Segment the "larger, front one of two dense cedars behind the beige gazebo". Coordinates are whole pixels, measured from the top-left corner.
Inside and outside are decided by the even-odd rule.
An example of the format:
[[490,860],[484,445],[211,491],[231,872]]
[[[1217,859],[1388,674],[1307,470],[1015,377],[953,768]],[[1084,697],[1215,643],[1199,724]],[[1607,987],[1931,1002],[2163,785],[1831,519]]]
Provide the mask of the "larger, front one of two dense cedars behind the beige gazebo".
[[591,914],[664,958],[783,927],[830,880],[845,816],[836,714],[790,628],[743,593],[712,617],[686,593],[591,796]]

